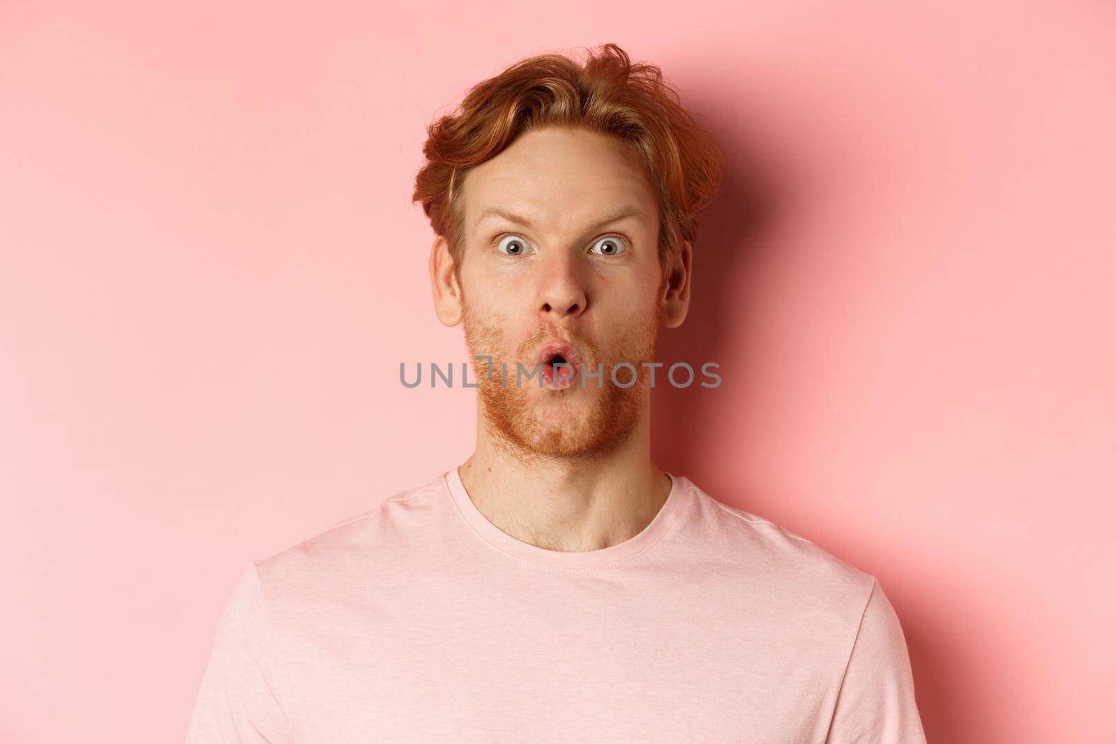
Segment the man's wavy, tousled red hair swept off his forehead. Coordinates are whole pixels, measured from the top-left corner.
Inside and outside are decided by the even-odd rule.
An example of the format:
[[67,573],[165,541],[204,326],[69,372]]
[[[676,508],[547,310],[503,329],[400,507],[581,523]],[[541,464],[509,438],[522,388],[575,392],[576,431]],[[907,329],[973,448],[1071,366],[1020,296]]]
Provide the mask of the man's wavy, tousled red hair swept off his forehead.
[[632,62],[615,44],[587,59],[555,54],[516,62],[473,86],[459,109],[426,128],[426,163],[412,201],[421,202],[454,264],[464,247],[460,192],[470,168],[491,160],[528,129],[580,125],[629,143],[650,167],[658,201],[658,259],[667,267],[680,241],[698,236],[699,213],[724,178],[716,139],[682,107],[662,70]]

